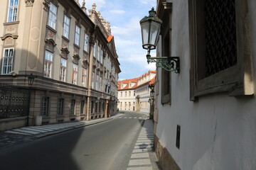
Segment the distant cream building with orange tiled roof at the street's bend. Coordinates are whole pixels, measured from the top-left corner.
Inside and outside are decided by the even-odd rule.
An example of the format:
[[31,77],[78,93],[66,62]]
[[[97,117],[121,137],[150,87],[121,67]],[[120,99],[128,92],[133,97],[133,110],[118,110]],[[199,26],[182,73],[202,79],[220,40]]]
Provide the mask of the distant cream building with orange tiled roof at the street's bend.
[[142,77],[118,81],[119,111],[149,113],[149,84],[154,84],[155,76],[155,71],[149,71]]

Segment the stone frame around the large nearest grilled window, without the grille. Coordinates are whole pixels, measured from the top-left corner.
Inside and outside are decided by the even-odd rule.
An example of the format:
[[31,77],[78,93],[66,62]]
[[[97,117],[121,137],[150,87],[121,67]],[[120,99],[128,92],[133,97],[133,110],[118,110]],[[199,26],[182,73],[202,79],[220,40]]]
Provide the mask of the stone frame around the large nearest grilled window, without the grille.
[[[229,96],[252,95],[252,51],[250,42],[250,18],[247,1],[235,0],[235,20],[237,36],[237,64],[210,77],[201,78],[204,57],[202,38],[204,31],[203,0],[188,1],[189,45],[190,45],[190,99],[198,96],[228,92]],[[201,26],[201,27],[200,27]],[[202,35],[203,34],[203,35]]]

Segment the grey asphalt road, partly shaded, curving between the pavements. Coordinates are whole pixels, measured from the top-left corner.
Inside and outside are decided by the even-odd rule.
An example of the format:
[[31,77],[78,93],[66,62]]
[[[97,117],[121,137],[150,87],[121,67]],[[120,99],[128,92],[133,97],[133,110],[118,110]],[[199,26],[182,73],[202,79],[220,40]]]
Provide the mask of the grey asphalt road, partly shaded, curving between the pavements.
[[117,117],[6,149],[0,153],[0,169],[126,169],[144,121],[138,117],[145,115],[126,112],[125,116],[133,118]]

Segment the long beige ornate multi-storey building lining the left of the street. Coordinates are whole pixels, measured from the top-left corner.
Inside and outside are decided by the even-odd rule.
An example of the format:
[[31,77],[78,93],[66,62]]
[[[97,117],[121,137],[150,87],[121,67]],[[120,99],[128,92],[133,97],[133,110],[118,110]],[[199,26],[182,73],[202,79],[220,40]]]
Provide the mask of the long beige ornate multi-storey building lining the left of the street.
[[30,125],[37,115],[61,123],[116,112],[121,70],[110,23],[95,4],[86,11],[85,1],[4,0],[0,8],[0,82],[26,88],[28,75],[36,77]]

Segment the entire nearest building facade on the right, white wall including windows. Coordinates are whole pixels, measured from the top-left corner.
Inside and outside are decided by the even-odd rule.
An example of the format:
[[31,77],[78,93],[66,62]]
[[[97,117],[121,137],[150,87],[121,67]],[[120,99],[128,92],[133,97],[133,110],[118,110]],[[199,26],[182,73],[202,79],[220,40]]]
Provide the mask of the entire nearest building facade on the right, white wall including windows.
[[155,140],[163,169],[256,169],[256,2],[158,0]]

